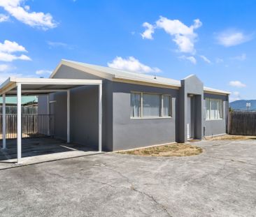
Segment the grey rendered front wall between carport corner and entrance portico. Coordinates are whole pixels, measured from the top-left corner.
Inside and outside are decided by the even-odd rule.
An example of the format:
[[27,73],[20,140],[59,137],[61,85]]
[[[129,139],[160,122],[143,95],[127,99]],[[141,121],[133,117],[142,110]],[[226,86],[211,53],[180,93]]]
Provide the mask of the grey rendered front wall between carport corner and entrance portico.
[[[171,118],[131,119],[130,93],[170,94]],[[178,90],[113,82],[113,149],[132,149],[176,141],[176,100]]]

